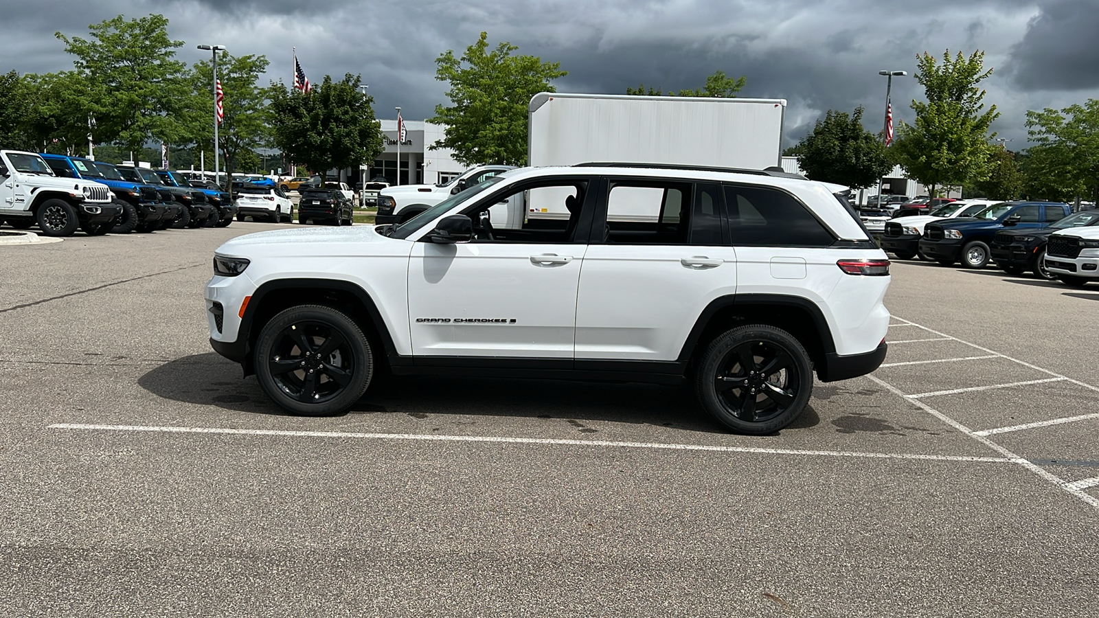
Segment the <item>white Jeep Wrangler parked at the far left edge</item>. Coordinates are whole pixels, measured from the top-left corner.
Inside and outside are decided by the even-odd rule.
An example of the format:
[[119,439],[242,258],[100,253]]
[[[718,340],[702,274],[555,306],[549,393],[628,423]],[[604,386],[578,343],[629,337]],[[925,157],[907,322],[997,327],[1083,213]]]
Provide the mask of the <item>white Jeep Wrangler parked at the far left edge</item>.
[[0,151],[0,221],[26,230],[34,223],[47,236],[71,236],[87,229],[113,227],[122,214],[107,185],[60,178],[34,153]]

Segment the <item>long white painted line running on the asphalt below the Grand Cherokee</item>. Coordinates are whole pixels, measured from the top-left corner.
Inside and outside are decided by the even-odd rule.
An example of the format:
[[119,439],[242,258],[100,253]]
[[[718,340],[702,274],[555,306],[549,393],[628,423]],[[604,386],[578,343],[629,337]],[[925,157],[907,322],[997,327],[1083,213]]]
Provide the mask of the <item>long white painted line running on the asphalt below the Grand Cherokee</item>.
[[720,453],[761,453],[771,455],[809,455],[829,457],[864,457],[876,460],[920,460],[940,462],[1018,463],[1010,457],[966,455],[923,455],[918,453],[864,453],[857,451],[806,451],[798,449],[764,449],[755,446],[718,446],[707,444],[668,444],[659,442],[617,442],[610,440],[566,440],[554,438],[504,438],[495,435],[433,435],[422,433],[357,433],[349,431],[290,431],[280,429],[227,429],[214,427],[155,427],[134,424],[55,423],[48,429],[79,431],[129,431],[154,433],[213,433],[230,435],[275,435],[288,438],[356,438],[366,440],[409,440],[426,442],[490,442],[503,444],[550,444],[565,446],[611,446],[620,449],[655,449],[670,451],[711,451]]

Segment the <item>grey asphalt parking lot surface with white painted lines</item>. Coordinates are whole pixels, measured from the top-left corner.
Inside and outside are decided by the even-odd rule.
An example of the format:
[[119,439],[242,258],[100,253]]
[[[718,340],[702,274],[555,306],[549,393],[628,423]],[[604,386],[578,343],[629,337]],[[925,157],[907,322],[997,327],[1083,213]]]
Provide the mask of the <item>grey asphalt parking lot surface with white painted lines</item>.
[[886,364],[770,437],[476,378],[296,418],[203,314],[275,227],[0,246],[0,615],[1099,616],[1099,286],[895,262]]

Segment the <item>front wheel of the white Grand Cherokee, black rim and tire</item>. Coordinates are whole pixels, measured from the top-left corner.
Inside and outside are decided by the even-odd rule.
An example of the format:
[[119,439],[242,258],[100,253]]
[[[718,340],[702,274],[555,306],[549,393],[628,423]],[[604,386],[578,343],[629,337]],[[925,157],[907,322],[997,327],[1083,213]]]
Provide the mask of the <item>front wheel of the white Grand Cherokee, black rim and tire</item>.
[[321,305],[291,307],[271,318],[259,331],[254,361],[264,393],[302,416],[346,410],[374,377],[374,352],[363,330]]

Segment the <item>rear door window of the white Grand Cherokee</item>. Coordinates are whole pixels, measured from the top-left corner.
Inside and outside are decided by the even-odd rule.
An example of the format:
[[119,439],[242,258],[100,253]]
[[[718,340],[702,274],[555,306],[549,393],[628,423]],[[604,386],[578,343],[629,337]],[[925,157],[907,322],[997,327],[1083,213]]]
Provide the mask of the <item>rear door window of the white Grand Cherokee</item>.
[[[691,186],[686,183],[632,180],[611,183],[610,194],[607,197],[606,242],[687,244],[691,219],[690,196]],[[711,195],[711,209],[712,198]]]

